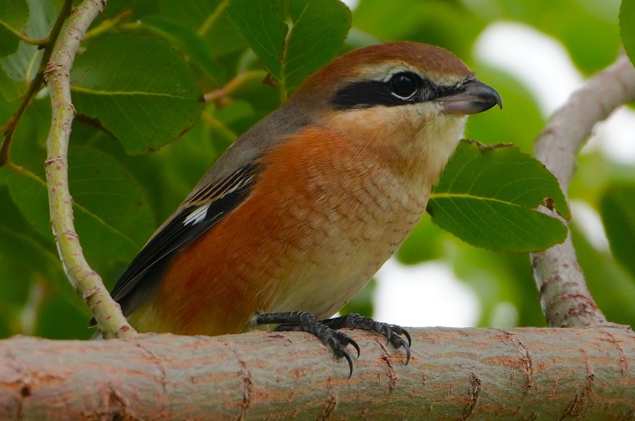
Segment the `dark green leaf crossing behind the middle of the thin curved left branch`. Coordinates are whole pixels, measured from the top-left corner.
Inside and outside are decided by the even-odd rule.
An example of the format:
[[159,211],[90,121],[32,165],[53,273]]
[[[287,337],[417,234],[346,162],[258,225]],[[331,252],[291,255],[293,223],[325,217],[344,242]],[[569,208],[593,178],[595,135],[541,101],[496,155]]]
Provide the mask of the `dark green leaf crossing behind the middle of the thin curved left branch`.
[[[69,164],[75,226],[86,257],[130,261],[155,227],[138,182],[115,159],[88,147],[72,147]],[[46,181],[28,170],[7,181],[23,215],[39,234],[50,237]]]

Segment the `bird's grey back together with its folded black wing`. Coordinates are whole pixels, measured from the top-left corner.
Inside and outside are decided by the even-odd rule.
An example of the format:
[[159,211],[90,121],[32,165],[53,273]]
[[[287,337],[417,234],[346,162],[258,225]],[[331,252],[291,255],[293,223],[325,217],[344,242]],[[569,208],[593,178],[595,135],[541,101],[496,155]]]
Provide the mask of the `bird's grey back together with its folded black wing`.
[[[144,284],[159,281],[161,263],[166,262],[166,257],[192,243],[243,203],[261,170],[257,161],[262,152],[308,122],[308,117],[283,106],[229,147],[178,210],[150,237],[115,284],[110,295],[122,305],[124,315],[138,305],[132,299],[134,293],[131,294],[135,286],[142,281]],[[95,324],[92,319],[90,326]]]

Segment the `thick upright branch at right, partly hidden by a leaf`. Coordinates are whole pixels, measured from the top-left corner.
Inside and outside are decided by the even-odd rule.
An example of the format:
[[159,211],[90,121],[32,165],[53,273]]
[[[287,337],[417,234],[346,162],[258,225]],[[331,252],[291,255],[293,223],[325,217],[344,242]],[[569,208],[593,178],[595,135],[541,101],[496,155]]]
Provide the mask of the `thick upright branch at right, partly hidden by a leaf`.
[[[538,136],[535,156],[558,178],[567,192],[578,151],[598,121],[615,108],[635,98],[635,69],[622,54],[607,69],[575,91],[551,117]],[[544,209],[553,216],[555,213]],[[587,289],[584,274],[575,257],[571,235],[565,243],[542,253],[531,253],[533,277],[540,291],[540,304],[550,326],[600,326],[606,317]]]

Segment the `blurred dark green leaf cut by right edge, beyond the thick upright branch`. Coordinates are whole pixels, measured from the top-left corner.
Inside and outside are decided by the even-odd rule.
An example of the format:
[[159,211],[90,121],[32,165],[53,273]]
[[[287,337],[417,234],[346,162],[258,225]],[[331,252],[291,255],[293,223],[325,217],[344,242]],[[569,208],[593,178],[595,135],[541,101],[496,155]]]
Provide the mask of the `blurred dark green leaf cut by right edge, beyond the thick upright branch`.
[[613,182],[600,198],[599,211],[615,260],[635,277],[635,184]]

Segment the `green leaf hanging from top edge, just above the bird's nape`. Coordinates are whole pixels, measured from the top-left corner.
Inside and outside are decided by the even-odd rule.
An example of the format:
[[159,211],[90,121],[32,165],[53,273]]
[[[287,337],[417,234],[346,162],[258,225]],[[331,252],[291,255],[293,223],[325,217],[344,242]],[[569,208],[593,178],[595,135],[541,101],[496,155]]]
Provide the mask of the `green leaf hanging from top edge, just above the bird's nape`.
[[288,8],[291,30],[283,0],[231,0],[228,9],[283,98],[337,56],[351,28],[351,11],[340,0],[290,0]]

